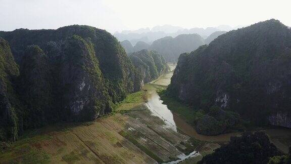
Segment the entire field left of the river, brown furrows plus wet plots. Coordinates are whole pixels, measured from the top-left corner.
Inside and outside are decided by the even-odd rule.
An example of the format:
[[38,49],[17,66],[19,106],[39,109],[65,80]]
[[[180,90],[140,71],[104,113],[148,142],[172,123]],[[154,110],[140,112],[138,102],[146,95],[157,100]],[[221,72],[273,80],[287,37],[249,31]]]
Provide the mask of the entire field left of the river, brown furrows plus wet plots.
[[[116,113],[86,124],[46,127],[39,130],[46,137],[29,142],[22,139],[21,144],[46,156],[36,155],[33,160],[25,160],[28,163],[36,158],[44,163],[167,162],[186,150],[181,143],[187,143],[189,137],[164,125],[162,119],[141,103],[125,114]],[[12,153],[14,149],[12,146],[10,151],[0,154],[0,163],[22,162],[22,158]],[[20,151],[24,149],[27,147],[21,147]]]

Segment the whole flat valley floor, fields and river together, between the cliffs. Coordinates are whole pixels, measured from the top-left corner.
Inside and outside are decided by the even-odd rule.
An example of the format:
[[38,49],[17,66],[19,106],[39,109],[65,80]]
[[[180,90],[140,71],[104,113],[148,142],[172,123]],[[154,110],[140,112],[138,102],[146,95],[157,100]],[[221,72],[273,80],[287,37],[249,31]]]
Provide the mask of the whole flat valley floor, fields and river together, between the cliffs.
[[[193,163],[240,132],[198,134],[179,114],[163,104],[157,91],[170,84],[170,71],[127,96],[113,113],[92,122],[66,123],[27,132],[0,163]],[[288,153],[291,130],[264,130],[277,148]]]

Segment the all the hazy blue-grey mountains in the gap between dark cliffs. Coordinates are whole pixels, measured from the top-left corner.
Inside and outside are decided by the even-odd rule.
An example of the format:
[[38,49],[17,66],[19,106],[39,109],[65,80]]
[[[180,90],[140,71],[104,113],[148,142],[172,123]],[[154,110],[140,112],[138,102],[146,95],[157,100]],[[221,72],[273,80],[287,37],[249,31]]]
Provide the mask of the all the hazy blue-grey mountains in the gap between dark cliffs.
[[185,29],[178,26],[163,25],[137,30],[116,32],[127,54],[140,50],[156,50],[166,61],[176,62],[180,54],[196,50],[199,46],[209,44],[219,35],[236,29],[228,25],[207,28]]

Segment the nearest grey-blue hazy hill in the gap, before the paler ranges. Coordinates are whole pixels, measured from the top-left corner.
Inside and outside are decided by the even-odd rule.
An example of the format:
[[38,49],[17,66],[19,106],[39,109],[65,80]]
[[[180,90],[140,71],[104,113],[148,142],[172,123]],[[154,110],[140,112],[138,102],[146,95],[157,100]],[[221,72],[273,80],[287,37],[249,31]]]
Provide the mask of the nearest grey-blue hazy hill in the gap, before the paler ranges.
[[166,61],[176,62],[181,53],[191,52],[204,44],[199,34],[180,34],[176,37],[166,36],[153,42],[151,49],[159,52]]

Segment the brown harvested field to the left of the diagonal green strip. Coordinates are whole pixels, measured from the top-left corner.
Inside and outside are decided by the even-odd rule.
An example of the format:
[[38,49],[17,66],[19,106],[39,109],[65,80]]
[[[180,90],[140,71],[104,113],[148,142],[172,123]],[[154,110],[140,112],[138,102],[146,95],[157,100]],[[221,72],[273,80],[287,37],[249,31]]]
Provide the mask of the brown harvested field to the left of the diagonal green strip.
[[[126,115],[116,114],[90,125],[48,131],[50,139],[33,142],[30,147],[49,155],[47,161],[51,163],[156,163],[118,133],[127,119]],[[13,155],[0,163],[10,162],[17,162]]]

